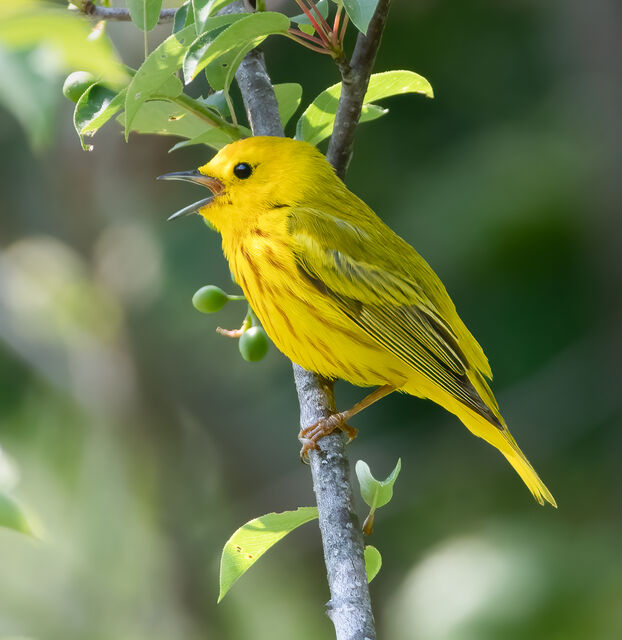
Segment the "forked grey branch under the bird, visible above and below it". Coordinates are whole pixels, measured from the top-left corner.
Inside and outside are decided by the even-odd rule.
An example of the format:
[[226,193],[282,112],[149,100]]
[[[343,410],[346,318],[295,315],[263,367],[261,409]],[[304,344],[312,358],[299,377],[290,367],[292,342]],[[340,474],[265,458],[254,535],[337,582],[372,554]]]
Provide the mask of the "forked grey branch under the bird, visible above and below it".
[[[367,36],[359,35],[352,61],[341,62],[344,82],[328,160],[340,176],[352,153],[354,131],[386,21],[389,0],[380,0]],[[226,11],[243,11],[238,1]],[[283,127],[263,56],[257,50],[243,60],[236,79],[254,135],[282,136]],[[300,424],[309,426],[336,411],[333,384],[294,364]],[[375,640],[374,617],[363,558],[363,533],[353,505],[345,437],[322,438],[309,454],[331,598],[328,615],[338,640]]]

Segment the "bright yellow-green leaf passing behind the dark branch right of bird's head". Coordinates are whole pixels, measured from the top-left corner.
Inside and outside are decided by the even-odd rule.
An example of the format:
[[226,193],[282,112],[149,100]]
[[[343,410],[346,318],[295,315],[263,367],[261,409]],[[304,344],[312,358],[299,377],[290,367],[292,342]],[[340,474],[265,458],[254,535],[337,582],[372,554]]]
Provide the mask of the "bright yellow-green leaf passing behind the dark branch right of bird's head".
[[[434,97],[430,83],[413,71],[385,71],[375,73],[369,79],[364,103],[381,100],[402,93],[421,93]],[[333,132],[335,114],[341,96],[341,83],[322,91],[305,109],[296,126],[296,138],[317,145]],[[376,117],[382,114],[376,114]],[[375,118],[368,118],[373,120]]]

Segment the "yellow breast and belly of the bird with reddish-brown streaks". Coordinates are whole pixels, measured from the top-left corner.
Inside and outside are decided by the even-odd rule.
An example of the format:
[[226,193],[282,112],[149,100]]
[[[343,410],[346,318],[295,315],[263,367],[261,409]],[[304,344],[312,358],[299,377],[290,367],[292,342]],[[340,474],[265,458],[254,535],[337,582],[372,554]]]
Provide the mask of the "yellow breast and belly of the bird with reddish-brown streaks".
[[277,348],[305,369],[358,386],[405,379],[394,356],[301,276],[283,217],[262,222],[243,236],[223,236],[223,249],[236,282]]

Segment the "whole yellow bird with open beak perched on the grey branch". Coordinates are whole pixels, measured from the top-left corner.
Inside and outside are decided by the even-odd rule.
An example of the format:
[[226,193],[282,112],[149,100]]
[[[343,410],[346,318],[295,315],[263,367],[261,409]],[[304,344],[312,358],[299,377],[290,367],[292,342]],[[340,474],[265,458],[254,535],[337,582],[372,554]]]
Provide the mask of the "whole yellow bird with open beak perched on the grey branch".
[[210,194],[169,219],[200,214],[276,347],[328,379],[376,387],[348,411],[301,429],[302,454],[353,415],[399,391],[432,400],[496,447],[540,504],[551,492],[510,434],[490,365],[428,263],[350,191],[313,145],[256,136],[192,171],[160,176]]

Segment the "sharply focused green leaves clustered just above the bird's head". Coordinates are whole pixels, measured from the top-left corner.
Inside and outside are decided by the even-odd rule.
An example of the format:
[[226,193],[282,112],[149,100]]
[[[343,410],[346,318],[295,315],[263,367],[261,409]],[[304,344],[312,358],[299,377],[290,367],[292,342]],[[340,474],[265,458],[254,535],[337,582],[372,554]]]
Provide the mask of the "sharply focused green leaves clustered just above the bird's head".
[[[186,3],[177,12],[173,33],[135,72],[131,71],[126,87],[115,93],[105,83],[96,83],[85,92],[74,115],[78,134],[93,135],[116,115],[126,138],[131,131],[185,138],[173,149],[196,144],[220,149],[250,135],[248,128],[238,123],[229,97],[235,72],[250,50],[268,36],[288,36],[292,20],[302,18],[292,19],[274,11],[214,15],[223,4]],[[190,98],[184,87],[200,74],[205,76],[210,93]],[[311,102],[296,123],[298,139],[318,144],[330,135],[340,92],[339,83]],[[407,92],[433,95],[425,78],[413,72],[376,74],[370,82],[361,121],[387,112],[372,100]],[[275,93],[285,126],[300,105],[302,87],[286,83],[275,86]]]

